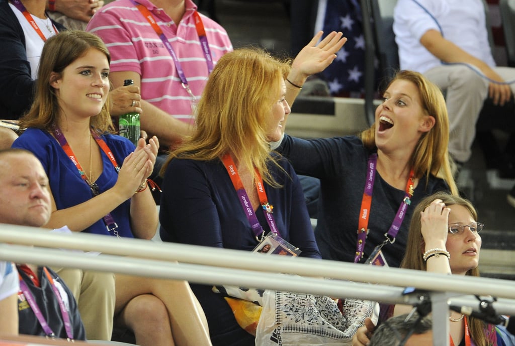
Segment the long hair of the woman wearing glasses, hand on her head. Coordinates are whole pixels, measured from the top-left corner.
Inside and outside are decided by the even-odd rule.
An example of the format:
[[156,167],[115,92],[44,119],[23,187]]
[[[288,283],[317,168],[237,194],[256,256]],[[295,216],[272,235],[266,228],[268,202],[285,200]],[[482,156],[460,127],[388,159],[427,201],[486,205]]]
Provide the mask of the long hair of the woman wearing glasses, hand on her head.
[[[447,192],[437,192],[432,195],[426,196],[419,202],[411,216],[411,223],[409,225],[408,239],[406,242],[406,253],[401,262],[401,268],[426,270],[426,264],[422,258],[424,249],[424,238],[422,237],[422,223],[420,212],[431,205],[435,199],[441,199],[445,206],[462,206],[467,209],[470,215],[477,220],[477,211],[468,199],[462,198],[458,195],[451,195]],[[473,268],[467,271],[466,275],[479,276],[479,269]],[[488,346],[487,338],[485,336],[485,322],[470,317],[470,331],[472,338],[477,346]]]

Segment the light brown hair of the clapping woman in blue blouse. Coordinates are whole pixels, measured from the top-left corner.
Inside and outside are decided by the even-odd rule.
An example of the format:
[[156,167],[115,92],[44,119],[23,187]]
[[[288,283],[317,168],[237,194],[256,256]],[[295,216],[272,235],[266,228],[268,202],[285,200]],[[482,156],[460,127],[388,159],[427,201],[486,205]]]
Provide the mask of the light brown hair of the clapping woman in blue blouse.
[[[45,42],[38,69],[34,102],[28,113],[20,119],[22,128],[53,129],[59,116],[59,103],[55,89],[50,83],[60,78],[68,65],[84,56],[90,49],[104,53],[108,63],[111,62],[109,50],[104,42],[90,32],[65,30]],[[52,72],[57,73],[56,78],[51,77]],[[109,106],[108,97],[100,113],[90,119],[91,126],[99,133],[114,132]]]

